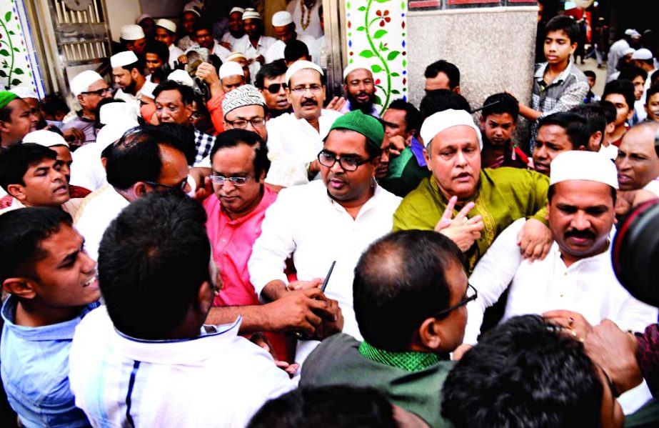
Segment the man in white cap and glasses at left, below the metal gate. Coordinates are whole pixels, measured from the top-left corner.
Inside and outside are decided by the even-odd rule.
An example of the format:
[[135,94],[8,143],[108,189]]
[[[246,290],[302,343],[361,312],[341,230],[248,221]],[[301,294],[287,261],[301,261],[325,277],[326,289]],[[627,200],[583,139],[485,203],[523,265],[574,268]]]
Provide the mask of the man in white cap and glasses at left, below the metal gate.
[[[74,119],[62,126],[62,131],[72,128],[79,129],[85,134],[85,141],[82,141],[81,145],[93,143],[96,141],[96,128],[94,127],[96,106],[99,105],[101,99],[112,98],[112,90],[100,74],[96,71],[86,70],[71,80],[71,92],[76,96],[82,110],[78,111]],[[71,148],[74,149],[74,147]]]

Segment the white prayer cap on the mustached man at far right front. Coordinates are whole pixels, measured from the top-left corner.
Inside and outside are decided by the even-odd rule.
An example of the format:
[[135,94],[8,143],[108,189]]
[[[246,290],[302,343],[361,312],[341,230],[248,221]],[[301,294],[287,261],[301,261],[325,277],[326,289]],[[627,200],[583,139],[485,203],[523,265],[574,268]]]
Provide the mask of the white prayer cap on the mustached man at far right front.
[[549,185],[568,180],[599,181],[618,189],[618,171],[615,164],[595,151],[563,151],[551,161]]

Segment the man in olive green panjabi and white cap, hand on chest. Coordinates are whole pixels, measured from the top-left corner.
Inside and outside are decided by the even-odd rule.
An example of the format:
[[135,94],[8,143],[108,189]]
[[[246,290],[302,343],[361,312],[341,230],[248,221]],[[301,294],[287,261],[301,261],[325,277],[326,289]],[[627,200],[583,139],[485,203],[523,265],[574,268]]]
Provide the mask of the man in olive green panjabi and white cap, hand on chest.
[[421,138],[433,175],[398,206],[394,231],[435,229],[445,234],[465,254],[471,274],[498,234],[527,217],[518,235],[520,252],[532,259],[545,257],[551,244],[546,176],[516,168],[481,169],[481,132],[463,110],[429,116]]

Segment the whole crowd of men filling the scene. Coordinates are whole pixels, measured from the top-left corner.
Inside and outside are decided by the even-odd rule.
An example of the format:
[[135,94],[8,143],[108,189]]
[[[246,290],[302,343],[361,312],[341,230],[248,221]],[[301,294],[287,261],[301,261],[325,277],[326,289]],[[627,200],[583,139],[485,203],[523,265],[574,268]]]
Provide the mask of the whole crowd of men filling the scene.
[[358,60],[326,99],[321,1],[268,7],[139,16],[76,113],[0,91],[3,426],[659,423],[611,264],[659,196],[638,33],[600,99],[555,16],[528,105],[439,60],[380,111]]

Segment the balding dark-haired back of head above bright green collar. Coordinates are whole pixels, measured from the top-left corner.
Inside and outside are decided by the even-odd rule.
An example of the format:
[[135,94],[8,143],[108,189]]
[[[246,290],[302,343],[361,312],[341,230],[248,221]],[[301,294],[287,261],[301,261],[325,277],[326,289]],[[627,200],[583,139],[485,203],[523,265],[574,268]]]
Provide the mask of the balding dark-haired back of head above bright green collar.
[[371,244],[353,281],[355,316],[366,342],[408,351],[423,320],[448,307],[444,272],[461,262],[456,244],[432,231],[393,232]]

